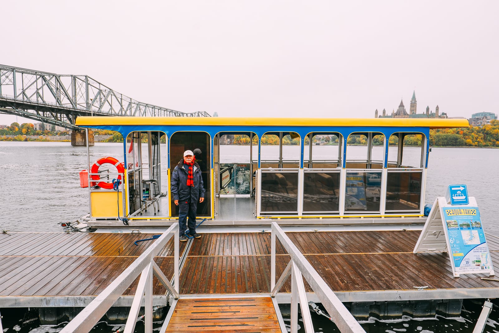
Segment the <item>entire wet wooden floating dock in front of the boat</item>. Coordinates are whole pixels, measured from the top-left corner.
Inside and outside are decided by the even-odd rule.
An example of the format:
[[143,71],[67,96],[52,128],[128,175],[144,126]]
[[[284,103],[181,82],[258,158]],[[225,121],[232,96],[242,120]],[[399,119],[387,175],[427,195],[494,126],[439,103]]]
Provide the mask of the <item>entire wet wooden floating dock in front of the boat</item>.
[[[200,230],[201,232],[201,230]],[[286,232],[343,302],[499,297],[499,281],[485,274],[454,278],[446,253],[413,254],[420,231]],[[2,307],[84,306],[153,241],[152,234],[0,234]],[[181,243],[181,254],[186,249]],[[488,236],[499,267],[499,239]],[[180,274],[181,295],[270,292],[270,233],[205,233],[194,239]],[[289,261],[280,243],[277,277]],[[156,263],[171,278],[173,240]],[[138,279],[116,305],[130,305]],[[154,279],[158,303],[165,288]],[[305,283],[308,292],[312,292]],[[416,287],[428,286],[424,291]],[[286,283],[281,292],[290,292]]]

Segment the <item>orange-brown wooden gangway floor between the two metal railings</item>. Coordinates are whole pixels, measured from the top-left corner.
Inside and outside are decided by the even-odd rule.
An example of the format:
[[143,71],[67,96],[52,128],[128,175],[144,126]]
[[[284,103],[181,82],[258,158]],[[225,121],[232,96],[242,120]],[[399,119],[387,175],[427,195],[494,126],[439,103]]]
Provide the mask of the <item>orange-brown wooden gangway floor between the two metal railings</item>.
[[180,299],[166,332],[280,333],[269,297]]

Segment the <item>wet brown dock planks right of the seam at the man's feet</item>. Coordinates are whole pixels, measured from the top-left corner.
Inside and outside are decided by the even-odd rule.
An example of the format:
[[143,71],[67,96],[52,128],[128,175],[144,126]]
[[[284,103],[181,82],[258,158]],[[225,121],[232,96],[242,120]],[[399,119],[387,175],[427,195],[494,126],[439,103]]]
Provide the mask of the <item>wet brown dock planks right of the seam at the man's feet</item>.
[[[296,247],[335,292],[499,288],[485,274],[454,278],[446,253],[413,254],[420,231],[288,232]],[[276,276],[289,262],[277,241]],[[489,244],[499,268],[499,243]],[[270,234],[205,234],[195,240],[181,274],[183,294],[268,293]],[[307,291],[312,290],[305,282]],[[281,292],[290,292],[287,282]]]

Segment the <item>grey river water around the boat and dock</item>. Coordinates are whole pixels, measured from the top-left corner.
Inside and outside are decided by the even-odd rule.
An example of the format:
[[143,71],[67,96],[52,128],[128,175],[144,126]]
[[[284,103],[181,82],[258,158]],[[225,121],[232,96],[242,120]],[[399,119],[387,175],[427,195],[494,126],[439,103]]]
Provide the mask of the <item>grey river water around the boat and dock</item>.
[[[285,148],[284,154],[296,153],[297,147]],[[224,147],[221,150],[221,162],[246,162],[245,154],[240,153],[241,149],[237,146]],[[262,149],[271,155],[275,147]],[[122,160],[123,147],[120,143],[96,143],[90,148],[90,154],[92,163],[104,156]],[[162,160],[163,165],[166,165],[165,156]],[[477,199],[485,230],[499,236],[499,221],[496,218],[499,201],[498,165],[499,149],[432,148],[428,163],[426,203],[433,203],[436,197],[444,196],[450,184],[466,184],[469,195]],[[0,230],[60,232],[58,222],[74,221],[85,215],[88,212],[88,189],[80,188],[78,173],[87,167],[86,147],[71,147],[68,142],[0,142],[0,177],[3,179]],[[465,301],[466,311],[460,319],[437,317],[421,321],[406,318],[390,323],[372,321],[362,326],[367,332],[471,333],[482,304]],[[499,333],[497,322],[499,312],[495,307],[484,332]],[[10,326],[12,331],[19,331],[23,327],[36,333],[60,330],[22,326],[19,323]],[[321,318],[315,318],[314,323],[316,332],[335,332]],[[4,332],[5,328],[8,327],[4,326]],[[22,329],[23,332],[29,330]]]

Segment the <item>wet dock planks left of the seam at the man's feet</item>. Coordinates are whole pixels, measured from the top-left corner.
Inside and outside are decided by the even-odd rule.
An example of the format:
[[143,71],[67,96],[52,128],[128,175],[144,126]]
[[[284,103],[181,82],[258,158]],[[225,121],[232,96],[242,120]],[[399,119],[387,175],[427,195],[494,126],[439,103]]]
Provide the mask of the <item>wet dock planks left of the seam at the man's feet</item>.
[[[117,278],[152,241],[153,234],[12,233],[0,235],[1,296],[95,296]],[[185,244],[181,244],[181,251]],[[173,272],[173,240],[155,262]],[[134,295],[138,278],[124,295]],[[155,295],[166,289],[154,278]]]

